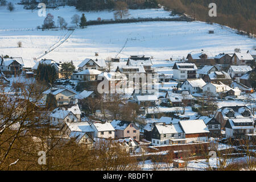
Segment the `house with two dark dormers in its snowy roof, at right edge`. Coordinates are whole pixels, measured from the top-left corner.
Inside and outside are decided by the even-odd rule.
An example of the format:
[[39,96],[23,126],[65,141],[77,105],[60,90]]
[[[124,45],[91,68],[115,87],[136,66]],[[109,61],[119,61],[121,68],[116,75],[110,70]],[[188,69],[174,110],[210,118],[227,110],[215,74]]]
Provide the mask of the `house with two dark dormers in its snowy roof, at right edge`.
[[224,128],[228,119],[254,118],[253,113],[247,106],[224,106],[216,111],[214,118],[221,123]]

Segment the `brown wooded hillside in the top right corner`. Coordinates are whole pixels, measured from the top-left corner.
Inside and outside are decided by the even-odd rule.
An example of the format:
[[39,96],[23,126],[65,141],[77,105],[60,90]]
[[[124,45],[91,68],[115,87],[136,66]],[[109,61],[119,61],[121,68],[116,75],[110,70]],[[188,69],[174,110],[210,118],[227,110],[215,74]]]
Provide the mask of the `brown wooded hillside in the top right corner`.
[[[185,13],[204,22],[218,23],[246,31],[248,35],[256,32],[254,0],[158,0],[158,2],[167,9],[173,10],[174,14]],[[209,16],[210,3],[216,3],[217,17]]]

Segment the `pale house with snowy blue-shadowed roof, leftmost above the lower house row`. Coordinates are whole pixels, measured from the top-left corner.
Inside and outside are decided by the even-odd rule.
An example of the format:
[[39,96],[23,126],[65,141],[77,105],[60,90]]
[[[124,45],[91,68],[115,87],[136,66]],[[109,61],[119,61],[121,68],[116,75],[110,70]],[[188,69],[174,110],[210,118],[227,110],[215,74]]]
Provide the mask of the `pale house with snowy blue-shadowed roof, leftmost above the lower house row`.
[[79,118],[72,111],[58,107],[49,115],[49,121],[51,125],[63,125],[65,122],[79,122]]

